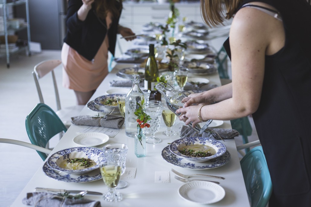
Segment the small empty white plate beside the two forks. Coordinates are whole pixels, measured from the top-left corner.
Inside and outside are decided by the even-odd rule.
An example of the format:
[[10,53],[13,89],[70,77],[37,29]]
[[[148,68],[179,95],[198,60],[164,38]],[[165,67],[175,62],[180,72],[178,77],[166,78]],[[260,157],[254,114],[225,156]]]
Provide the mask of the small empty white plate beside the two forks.
[[178,194],[185,200],[198,204],[216,203],[225,197],[225,190],[220,185],[207,181],[191,181],[178,189]]

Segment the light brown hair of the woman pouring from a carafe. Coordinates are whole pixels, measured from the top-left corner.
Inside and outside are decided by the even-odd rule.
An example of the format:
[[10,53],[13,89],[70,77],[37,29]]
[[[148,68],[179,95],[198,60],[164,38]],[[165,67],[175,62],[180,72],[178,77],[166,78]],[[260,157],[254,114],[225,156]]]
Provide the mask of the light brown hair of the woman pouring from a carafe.
[[[201,0],[201,16],[207,25],[219,25],[235,14],[241,2],[242,0]],[[224,9],[227,11],[225,14]]]

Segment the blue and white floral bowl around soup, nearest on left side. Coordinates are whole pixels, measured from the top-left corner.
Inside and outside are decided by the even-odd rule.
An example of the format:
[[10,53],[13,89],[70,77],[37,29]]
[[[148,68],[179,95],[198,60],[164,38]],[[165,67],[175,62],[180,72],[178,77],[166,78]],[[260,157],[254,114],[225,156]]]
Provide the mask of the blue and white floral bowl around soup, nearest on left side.
[[[100,149],[93,147],[72,147],[63,149],[61,151],[55,152],[48,158],[48,165],[54,170],[62,171],[64,173],[69,173],[73,175],[81,175],[88,173],[92,170],[99,168],[99,158],[104,155],[104,152]],[[80,170],[69,170],[60,167],[64,160],[73,158],[89,158],[96,162],[95,166],[90,168],[80,169]]]

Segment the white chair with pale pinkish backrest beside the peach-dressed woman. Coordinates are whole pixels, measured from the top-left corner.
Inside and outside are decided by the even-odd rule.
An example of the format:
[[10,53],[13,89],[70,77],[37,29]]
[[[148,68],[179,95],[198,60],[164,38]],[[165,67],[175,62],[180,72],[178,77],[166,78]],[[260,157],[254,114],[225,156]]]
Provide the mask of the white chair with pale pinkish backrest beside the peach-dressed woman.
[[34,71],[32,72],[32,74],[33,74],[34,79],[35,79],[35,84],[37,87],[40,103],[44,103],[44,100],[43,100],[41,88],[39,85],[39,79],[44,77],[49,72],[52,74],[53,85],[54,85],[54,90],[55,90],[55,97],[56,97],[56,106],[57,106],[56,114],[62,120],[62,122],[65,124],[65,126],[67,128],[69,128],[71,125],[71,117],[77,116],[81,112],[81,110],[83,109],[84,106],[83,105],[76,105],[76,106],[61,108],[57,83],[56,83],[55,74],[54,74],[54,69],[58,65],[60,65],[61,63],[62,63],[62,61],[60,61],[60,60],[42,61],[39,64],[35,65],[35,68],[34,68]]

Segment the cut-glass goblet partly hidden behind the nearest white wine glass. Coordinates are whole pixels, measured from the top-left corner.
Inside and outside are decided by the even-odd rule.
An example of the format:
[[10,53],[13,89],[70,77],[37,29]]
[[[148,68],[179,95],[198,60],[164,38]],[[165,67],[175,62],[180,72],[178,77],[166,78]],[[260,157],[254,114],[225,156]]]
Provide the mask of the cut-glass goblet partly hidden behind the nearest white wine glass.
[[[123,163],[122,163],[121,175],[123,175],[125,173],[125,163],[126,163],[126,154],[128,153],[128,146],[123,143],[112,143],[112,144],[105,145],[103,147],[103,151],[105,154],[114,153],[114,154],[119,154],[122,156]],[[122,189],[125,187],[128,187],[128,182],[120,180],[116,189]]]

